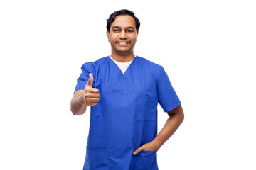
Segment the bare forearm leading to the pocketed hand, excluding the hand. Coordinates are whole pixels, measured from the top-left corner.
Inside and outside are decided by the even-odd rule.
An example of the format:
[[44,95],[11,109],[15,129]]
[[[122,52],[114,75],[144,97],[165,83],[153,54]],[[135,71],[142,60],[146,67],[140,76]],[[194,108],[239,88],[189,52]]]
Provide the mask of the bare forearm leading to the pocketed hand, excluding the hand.
[[159,149],[164,142],[169,140],[169,138],[178,129],[184,119],[184,114],[181,106],[178,106],[177,112],[169,113],[169,118],[166,120],[164,127],[161,129],[158,135],[154,138],[152,143]]

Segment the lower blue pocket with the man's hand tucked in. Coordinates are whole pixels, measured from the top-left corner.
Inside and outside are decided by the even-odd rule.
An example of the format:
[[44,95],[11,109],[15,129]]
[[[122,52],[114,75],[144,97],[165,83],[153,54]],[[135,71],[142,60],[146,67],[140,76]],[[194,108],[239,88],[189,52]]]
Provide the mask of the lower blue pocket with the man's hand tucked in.
[[136,156],[134,170],[150,170],[156,159],[156,151],[141,151]]

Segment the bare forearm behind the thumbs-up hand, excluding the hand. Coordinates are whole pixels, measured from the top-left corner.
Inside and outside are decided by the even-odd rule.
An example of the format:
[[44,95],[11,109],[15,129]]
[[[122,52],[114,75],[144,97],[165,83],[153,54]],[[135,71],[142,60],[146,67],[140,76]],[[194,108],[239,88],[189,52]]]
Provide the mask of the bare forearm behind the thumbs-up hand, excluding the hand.
[[82,103],[82,94],[74,96],[70,103],[70,109],[73,115],[82,115],[86,111],[86,104]]

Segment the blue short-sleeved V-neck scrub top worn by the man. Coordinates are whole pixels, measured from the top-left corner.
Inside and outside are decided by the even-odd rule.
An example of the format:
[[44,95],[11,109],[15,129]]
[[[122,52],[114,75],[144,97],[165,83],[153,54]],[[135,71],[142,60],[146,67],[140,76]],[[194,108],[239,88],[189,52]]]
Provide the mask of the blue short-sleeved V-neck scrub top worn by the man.
[[91,107],[84,170],[156,170],[155,151],[132,153],[157,135],[157,105],[165,112],[181,104],[163,67],[135,57],[124,74],[110,57],[81,67],[75,91],[89,74],[100,101]]

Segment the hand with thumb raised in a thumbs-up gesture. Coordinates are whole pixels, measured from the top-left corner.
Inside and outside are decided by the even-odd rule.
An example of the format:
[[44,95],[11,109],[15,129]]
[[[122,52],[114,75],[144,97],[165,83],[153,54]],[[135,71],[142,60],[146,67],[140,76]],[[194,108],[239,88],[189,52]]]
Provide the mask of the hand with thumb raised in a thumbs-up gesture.
[[92,88],[93,75],[89,74],[89,79],[84,89],[86,106],[95,106],[100,101],[99,89]]

